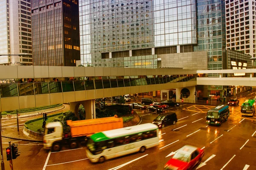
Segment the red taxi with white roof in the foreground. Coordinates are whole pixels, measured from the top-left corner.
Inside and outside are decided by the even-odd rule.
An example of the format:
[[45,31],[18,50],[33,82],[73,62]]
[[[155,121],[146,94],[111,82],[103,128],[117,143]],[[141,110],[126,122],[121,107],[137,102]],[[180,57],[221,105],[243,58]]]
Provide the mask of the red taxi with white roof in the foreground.
[[191,170],[198,166],[204,156],[204,150],[185,145],[166,163],[164,170]]

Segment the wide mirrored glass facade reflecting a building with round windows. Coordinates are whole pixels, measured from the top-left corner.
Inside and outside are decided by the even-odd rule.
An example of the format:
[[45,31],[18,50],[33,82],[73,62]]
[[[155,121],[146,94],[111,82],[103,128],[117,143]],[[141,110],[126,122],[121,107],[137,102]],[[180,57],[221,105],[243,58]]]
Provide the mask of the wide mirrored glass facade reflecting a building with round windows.
[[[139,58],[134,51],[149,49],[146,60],[154,55],[151,48],[197,43],[195,5],[195,0],[79,1],[81,64],[104,67],[100,63],[105,58],[112,62],[113,52],[128,51],[123,57]],[[156,67],[152,62],[151,68]]]

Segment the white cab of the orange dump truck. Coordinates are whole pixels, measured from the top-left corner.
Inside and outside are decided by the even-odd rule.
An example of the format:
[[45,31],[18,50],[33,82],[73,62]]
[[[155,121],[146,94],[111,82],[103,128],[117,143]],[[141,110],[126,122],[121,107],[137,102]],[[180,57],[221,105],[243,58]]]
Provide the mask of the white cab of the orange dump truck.
[[61,122],[50,122],[45,126],[44,132],[44,149],[51,149],[55,141],[61,141],[63,127]]

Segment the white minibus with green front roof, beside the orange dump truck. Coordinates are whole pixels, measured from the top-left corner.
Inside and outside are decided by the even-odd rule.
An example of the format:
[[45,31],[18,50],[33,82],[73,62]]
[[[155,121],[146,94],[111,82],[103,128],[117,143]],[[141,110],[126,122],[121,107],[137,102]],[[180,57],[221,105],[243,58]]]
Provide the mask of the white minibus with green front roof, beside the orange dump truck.
[[95,133],[87,141],[86,156],[91,162],[104,162],[135,152],[144,152],[159,144],[159,130],[155,124],[140,124]]

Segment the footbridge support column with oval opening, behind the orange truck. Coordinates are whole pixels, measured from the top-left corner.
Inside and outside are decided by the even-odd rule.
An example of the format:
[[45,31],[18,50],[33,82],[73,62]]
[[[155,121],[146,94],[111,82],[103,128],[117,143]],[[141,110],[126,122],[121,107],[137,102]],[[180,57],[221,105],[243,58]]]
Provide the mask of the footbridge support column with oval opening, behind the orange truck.
[[70,112],[75,113],[75,115],[80,120],[79,116],[79,106],[83,105],[85,110],[85,119],[93,119],[96,118],[96,110],[95,110],[95,99],[86,100],[86,101],[76,101],[70,103]]

